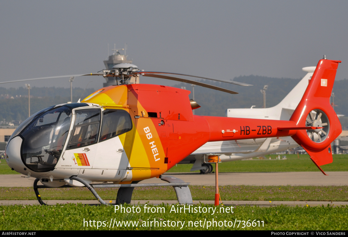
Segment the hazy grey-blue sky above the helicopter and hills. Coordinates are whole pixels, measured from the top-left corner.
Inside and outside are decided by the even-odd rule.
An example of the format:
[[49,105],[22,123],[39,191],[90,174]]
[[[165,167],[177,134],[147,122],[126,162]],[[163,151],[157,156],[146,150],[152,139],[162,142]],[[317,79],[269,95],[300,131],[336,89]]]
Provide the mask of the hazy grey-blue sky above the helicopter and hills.
[[[348,78],[347,10],[348,1],[2,0],[0,81],[99,71],[108,43],[110,53],[127,43],[128,58],[145,70],[301,78],[326,54],[342,60],[337,78]],[[69,87],[68,79],[27,83]],[[90,81],[97,89],[104,78],[73,85]]]

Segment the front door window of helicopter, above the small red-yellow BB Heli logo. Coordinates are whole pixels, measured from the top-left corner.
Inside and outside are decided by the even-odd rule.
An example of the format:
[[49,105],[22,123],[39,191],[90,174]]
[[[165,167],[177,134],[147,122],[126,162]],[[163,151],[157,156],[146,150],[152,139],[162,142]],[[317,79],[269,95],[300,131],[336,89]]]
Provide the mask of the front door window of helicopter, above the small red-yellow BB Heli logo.
[[101,110],[75,111],[75,122],[67,149],[88,146],[98,141]]

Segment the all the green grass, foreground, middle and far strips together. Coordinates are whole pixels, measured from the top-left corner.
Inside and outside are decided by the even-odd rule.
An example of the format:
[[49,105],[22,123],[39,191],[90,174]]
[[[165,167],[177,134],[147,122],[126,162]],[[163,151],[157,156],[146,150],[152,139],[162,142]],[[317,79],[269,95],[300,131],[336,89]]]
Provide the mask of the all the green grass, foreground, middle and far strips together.
[[[269,156],[268,156],[269,157]],[[287,160],[246,160],[219,164],[219,172],[318,171],[308,155],[287,155]],[[325,171],[348,171],[348,155],[334,155]],[[169,172],[189,172],[192,164],[174,166]],[[320,171],[318,171],[320,172]],[[0,174],[16,174],[0,164]],[[96,189],[104,201],[115,200],[118,188]],[[193,200],[214,200],[215,188],[190,186]],[[43,200],[94,200],[87,188],[39,189]],[[220,186],[224,200],[249,201],[348,201],[348,186]],[[36,200],[32,187],[0,187],[1,200]],[[172,187],[135,188],[133,200],[176,200]],[[133,206],[125,205],[127,210]],[[136,208],[137,206],[134,206]],[[163,208],[163,212],[159,209]],[[182,206],[174,205],[174,208]],[[192,207],[211,208],[213,205]],[[155,212],[120,213],[110,206],[57,204],[55,206],[1,206],[1,230],[346,230],[348,206],[234,206],[234,213],[176,213],[172,205],[151,206]],[[231,207],[229,207],[231,208]],[[224,207],[225,210],[226,206]],[[134,209],[133,209],[134,210]],[[152,210],[152,209],[150,209]],[[172,210],[172,211],[171,211]],[[231,209],[229,209],[231,210]],[[1,213],[2,212],[2,213]],[[94,222],[93,222],[94,221]],[[152,223],[151,223],[152,221]],[[160,227],[154,227],[154,223]],[[215,222],[214,222],[215,221]],[[112,225],[111,225],[112,223]],[[212,224],[215,226],[212,226]],[[117,226],[118,225],[118,226]],[[121,226],[122,225],[122,226]],[[125,226],[128,225],[128,226]],[[136,226],[137,225],[137,226]],[[151,226],[150,226],[151,225]],[[164,226],[166,225],[166,226]],[[169,225],[169,226],[168,226]],[[210,225],[210,226],[209,226]],[[99,226],[99,227],[98,227]],[[179,227],[178,227],[179,226]],[[208,227],[207,227],[208,226]]]

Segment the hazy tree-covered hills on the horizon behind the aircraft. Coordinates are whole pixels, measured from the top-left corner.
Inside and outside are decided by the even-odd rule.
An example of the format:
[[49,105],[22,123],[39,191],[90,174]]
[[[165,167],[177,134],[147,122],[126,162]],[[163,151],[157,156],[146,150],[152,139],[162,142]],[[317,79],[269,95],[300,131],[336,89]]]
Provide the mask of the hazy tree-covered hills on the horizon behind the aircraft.
[[[260,90],[264,85],[268,85],[266,91],[266,107],[278,104],[286,94],[300,81],[291,78],[271,78],[263,76],[239,76],[234,81],[252,84],[253,86],[237,86],[227,83],[207,82],[215,86],[236,91],[239,94],[228,94],[215,91],[201,86],[195,86],[195,101],[201,106],[195,110],[196,115],[225,116],[228,108],[255,108],[263,107],[263,95]],[[175,87],[185,86],[192,91],[191,84],[180,83]],[[73,88],[73,102],[78,101],[83,93],[82,99],[93,93],[94,89]],[[335,94],[334,109],[337,114],[347,115],[341,117],[342,128],[348,129],[348,80],[335,81],[333,92]],[[31,113],[37,112],[53,104],[66,103],[70,101],[70,88],[61,87],[33,87],[30,90]],[[0,121],[24,120],[28,116],[28,91],[23,88],[3,88],[0,87]],[[14,99],[10,99],[13,97]],[[190,94],[192,99],[192,93]]]

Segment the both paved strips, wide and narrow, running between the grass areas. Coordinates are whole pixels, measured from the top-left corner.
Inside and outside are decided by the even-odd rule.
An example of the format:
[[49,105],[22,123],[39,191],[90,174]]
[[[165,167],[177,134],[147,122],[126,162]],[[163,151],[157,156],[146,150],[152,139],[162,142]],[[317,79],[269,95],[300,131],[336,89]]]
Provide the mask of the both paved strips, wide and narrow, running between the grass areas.
[[[339,186],[348,185],[348,171],[327,172],[328,176],[321,172],[227,172],[219,173],[219,186],[222,185],[255,185],[255,186],[269,186],[269,185],[310,185],[310,186]],[[215,174],[200,175],[198,173],[165,173],[176,178],[180,178],[185,182],[190,182],[190,185],[215,185]],[[23,175],[0,175],[0,187],[33,187],[34,178],[24,178]],[[140,183],[166,183],[158,178],[143,180]],[[39,183],[40,184],[40,183]],[[1,196],[0,196],[1,199]],[[195,203],[214,204],[213,200],[194,201]],[[83,204],[99,204],[97,200],[49,200],[47,204],[63,204],[63,203],[83,203]],[[114,203],[114,200],[113,200]],[[172,201],[158,201],[146,200],[138,201],[132,200],[132,204],[176,204],[176,200]],[[225,205],[258,205],[258,206],[276,206],[276,205],[325,205],[327,204],[340,206],[348,205],[348,202],[289,202],[289,201],[223,201]],[[0,205],[38,205],[37,200],[0,200]]]

